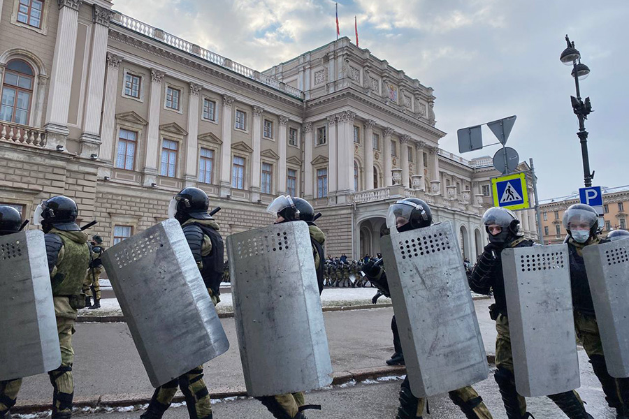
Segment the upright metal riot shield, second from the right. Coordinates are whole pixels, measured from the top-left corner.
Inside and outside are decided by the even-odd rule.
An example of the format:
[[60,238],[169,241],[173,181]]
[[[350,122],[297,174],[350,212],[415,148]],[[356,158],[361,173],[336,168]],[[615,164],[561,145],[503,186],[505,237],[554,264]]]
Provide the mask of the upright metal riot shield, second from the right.
[[501,256],[519,394],[579,388],[567,245],[505,249]]

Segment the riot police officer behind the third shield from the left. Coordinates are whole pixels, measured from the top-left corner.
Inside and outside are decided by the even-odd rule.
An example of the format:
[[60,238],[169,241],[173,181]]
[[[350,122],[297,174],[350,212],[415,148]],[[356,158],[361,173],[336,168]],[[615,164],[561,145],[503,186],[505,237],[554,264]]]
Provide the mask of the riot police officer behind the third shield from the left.
[[[267,207],[267,212],[276,216],[275,224],[305,221],[310,233],[312,257],[315,259],[319,295],[324,288],[324,243],[326,236],[315,224],[315,210],[307,200],[291,196],[278,196]],[[305,404],[303,392],[286,395],[256,397],[277,419],[306,419],[305,409],[321,409],[321,406]]]

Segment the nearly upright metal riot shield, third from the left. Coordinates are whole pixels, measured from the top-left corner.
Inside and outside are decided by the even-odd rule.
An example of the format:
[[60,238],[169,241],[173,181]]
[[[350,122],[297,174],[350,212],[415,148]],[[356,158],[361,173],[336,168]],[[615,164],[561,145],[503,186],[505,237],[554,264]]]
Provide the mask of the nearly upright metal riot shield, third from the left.
[[308,225],[281,223],[227,237],[236,332],[247,393],[332,383]]

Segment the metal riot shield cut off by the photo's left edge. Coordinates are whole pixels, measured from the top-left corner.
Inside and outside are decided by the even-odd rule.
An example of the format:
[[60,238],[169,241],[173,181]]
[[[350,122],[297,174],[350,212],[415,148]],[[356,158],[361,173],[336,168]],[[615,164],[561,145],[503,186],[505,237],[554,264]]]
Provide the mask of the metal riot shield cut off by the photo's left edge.
[[0,237],[0,381],[61,365],[44,235]]

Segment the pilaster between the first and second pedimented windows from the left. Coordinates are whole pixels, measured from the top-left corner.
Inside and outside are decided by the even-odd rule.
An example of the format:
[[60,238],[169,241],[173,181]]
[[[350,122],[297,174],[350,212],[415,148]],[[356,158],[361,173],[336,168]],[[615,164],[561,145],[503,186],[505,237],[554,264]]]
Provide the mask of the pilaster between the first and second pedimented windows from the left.
[[148,127],[146,133],[146,161],[144,165],[144,186],[157,182],[157,162],[159,161],[159,112],[161,111],[161,82],[163,71],[151,68],[151,96],[149,103]]

